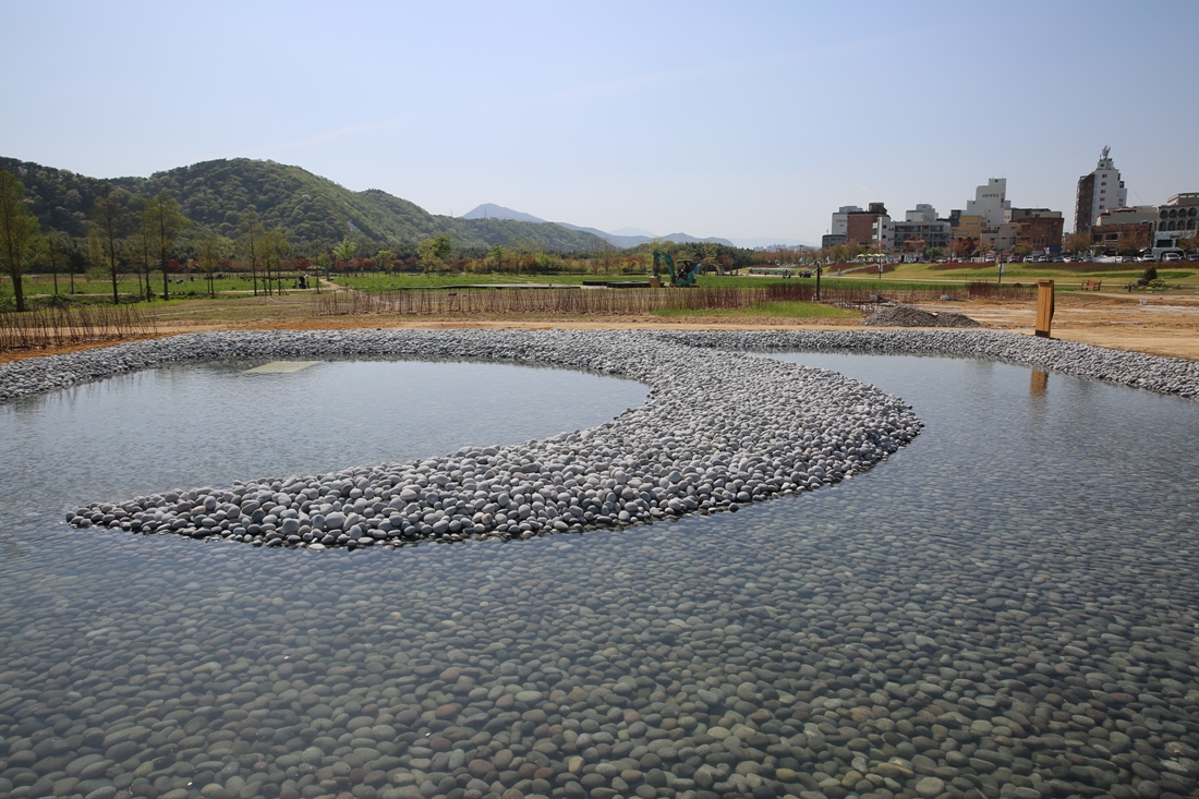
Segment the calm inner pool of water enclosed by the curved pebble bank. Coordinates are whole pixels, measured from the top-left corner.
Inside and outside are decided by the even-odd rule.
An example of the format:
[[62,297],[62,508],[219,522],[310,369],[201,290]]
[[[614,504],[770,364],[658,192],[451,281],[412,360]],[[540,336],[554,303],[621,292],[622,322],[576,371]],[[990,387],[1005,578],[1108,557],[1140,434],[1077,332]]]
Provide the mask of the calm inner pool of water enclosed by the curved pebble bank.
[[0,405],[0,531],[103,499],[315,474],[588,427],[645,388],[496,364],[223,361],[123,374]]

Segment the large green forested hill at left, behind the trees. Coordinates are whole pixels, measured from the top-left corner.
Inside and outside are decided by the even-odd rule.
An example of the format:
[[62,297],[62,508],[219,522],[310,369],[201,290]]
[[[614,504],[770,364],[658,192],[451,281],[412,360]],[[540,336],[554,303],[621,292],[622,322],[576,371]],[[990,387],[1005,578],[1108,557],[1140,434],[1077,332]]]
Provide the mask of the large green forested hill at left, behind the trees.
[[247,209],[266,227],[279,227],[296,245],[327,247],[343,238],[412,245],[451,233],[454,246],[534,242],[543,250],[597,250],[600,238],[559,224],[511,220],[463,220],[429,214],[415,203],[379,191],[353,192],[300,167],[273,161],[204,161],[150,178],[97,179],[16,158],[0,169],[25,185],[25,199],[42,229],[88,234],[88,215],[104,184],[128,192],[129,204],[168,190],[198,224],[233,238]]

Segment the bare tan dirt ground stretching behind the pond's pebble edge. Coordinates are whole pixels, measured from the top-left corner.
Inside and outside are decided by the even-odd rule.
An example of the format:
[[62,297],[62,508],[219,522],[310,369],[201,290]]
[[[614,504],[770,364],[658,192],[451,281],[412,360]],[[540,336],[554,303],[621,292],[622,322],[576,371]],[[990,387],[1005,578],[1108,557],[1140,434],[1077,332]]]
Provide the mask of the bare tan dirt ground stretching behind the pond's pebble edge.
[[[1199,361],[1199,295],[1059,294],[1053,337],[1111,349],[1126,349]],[[1032,335],[1032,302],[939,302],[922,305],[933,311],[964,313],[989,328]],[[821,330],[861,328],[857,319],[791,319],[772,317],[390,317],[313,316],[307,295],[239,300],[194,300],[151,311],[159,336],[200,330],[336,330],[380,329],[576,329],[576,330]],[[873,328],[872,330],[878,330]],[[100,342],[61,349],[0,353],[0,364],[119,342]]]

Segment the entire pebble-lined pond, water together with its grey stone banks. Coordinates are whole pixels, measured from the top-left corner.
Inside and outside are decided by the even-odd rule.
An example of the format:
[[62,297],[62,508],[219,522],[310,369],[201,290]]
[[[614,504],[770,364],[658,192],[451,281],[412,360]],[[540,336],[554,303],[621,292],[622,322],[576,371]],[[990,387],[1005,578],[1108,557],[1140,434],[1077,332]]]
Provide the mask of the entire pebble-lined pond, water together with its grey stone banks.
[[[139,390],[212,431],[88,416]],[[2,797],[1199,795],[1194,364],[201,334],[0,395]]]

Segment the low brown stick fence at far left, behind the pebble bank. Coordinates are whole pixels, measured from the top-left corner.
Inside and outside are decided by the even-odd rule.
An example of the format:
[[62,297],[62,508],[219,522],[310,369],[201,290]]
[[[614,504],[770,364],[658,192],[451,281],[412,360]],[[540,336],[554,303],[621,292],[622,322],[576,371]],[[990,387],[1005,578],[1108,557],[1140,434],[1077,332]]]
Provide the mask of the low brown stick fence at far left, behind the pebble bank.
[[157,335],[152,318],[129,306],[79,306],[0,313],[0,353]]

